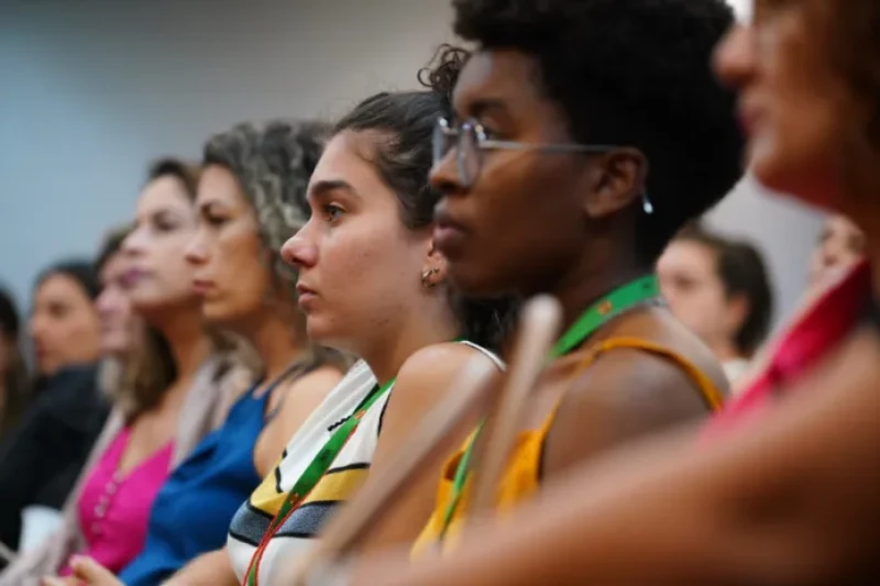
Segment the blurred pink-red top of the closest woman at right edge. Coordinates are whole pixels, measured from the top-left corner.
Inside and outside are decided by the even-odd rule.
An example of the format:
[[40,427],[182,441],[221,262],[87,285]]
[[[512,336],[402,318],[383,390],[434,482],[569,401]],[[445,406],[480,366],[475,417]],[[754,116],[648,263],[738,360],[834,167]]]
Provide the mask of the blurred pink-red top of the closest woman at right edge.
[[791,325],[761,368],[735,400],[728,402],[704,430],[704,439],[738,429],[776,405],[805,373],[854,330],[871,299],[871,269],[867,262],[854,266]]

